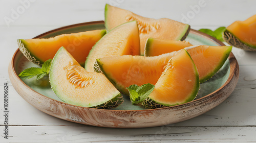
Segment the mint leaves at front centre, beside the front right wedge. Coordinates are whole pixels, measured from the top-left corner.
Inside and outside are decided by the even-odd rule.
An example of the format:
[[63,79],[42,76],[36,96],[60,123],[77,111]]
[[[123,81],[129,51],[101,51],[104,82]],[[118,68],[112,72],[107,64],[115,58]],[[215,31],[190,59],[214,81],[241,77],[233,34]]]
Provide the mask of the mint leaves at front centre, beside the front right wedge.
[[155,85],[147,83],[141,86],[136,84],[126,87],[130,93],[130,100],[132,101],[133,105],[139,104],[143,102],[150,93],[154,90]]

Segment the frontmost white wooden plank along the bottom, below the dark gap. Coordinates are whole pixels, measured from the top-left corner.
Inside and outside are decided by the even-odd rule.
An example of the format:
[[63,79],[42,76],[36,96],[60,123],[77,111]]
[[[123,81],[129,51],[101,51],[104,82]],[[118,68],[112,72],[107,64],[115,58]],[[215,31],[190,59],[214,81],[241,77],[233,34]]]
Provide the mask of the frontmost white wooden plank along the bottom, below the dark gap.
[[[1,128],[3,129],[3,128]],[[111,129],[91,126],[11,126],[0,142],[245,142],[256,127],[170,127]]]

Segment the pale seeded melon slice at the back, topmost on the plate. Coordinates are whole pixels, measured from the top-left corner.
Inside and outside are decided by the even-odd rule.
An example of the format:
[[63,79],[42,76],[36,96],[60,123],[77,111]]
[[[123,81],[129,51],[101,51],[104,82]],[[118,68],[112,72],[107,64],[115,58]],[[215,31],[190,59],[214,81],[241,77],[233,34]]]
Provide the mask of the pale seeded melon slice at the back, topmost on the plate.
[[125,23],[136,20],[140,32],[140,54],[144,54],[146,39],[149,37],[184,40],[190,30],[190,26],[168,18],[152,19],[139,16],[131,11],[120,9],[106,4],[105,27],[106,31]]

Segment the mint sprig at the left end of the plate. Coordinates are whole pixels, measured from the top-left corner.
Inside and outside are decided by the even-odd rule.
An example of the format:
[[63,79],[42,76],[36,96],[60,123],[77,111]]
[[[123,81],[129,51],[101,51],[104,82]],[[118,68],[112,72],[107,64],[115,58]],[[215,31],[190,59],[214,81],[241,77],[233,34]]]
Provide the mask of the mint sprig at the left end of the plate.
[[51,64],[52,64],[52,59],[49,59],[45,61],[44,64],[42,64],[42,68],[30,67],[30,68],[24,69],[22,73],[20,73],[18,76],[21,77],[22,79],[30,79],[36,76],[36,79],[39,80],[49,74]]

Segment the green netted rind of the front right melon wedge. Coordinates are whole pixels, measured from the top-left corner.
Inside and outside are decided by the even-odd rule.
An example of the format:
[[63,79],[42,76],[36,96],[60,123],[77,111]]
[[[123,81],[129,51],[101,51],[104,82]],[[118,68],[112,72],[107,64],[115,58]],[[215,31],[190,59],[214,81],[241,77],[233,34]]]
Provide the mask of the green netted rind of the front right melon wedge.
[[[188,52],[186,51],[186,53],[188,54]],[[165,104],[165,103],[161,103],[161,102],[157,102],[154,99],[151,99],[150,97],[147,97],[143,102],[142,102],[142,106],[146,107],[146,108],[161,108],[161,107],[168,107],[168,106],[175,106],[175,105],[179,105],[179,104],[183,104],[183,103],[187,103],[190,101],[193,101],[199,91],[200,88],[200,82],[199,82],[199,75],[198,75],[198,71],[197,71],[197,67],[194,63],[194,61],[192,60],[191,56],[188,54],[189,58],[191,59],[191,62],[193,62],[194,64],[194,69],[196,71],[195,75],[196,75],[196,84],[195,84],[195,88],[194,90],[191,92],[189,98],[187,98],[184,102],[182,103],[177,103],[177,104]]]

